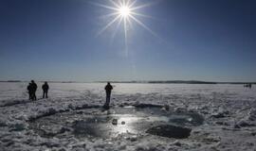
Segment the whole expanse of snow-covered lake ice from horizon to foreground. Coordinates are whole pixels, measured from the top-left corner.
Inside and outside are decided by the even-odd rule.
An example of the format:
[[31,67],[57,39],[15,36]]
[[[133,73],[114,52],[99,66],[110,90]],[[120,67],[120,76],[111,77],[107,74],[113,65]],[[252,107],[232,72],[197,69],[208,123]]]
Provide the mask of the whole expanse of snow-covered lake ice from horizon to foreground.
[[[247,89],[229,84],[113,85],[112,108],[102,111],[103,83],[49,83],[49,98],[35,102],[27,100],[27,83],[0,83],[0,150],[256,150],[255,86]],[[42,83],[38,86],[41,88]],[[41,89],[37,96],[42,97]],[[136,112],[131,118],[127,113],[131,114],[133,109],[129,107],[146,107],[146,111],[139,112],[143,116]],[[159,112],[168,112],[163,119],[155,113],[155,107]],[[188,121],[177,113],[186,114]],[[107,126],[114,122],[117,126],[111,128],[116,128],[118,135],[75,135],[88,132],[86,124],[90,123],[86,120],[90,118],[105,126],[101,120],[108,115],[117,115],[105,122]],[[203,122],[194,122],[197,116],[203,117]],[[139,127],[139,132],[124,130],[122,134],[123,129],[117,129],[128,128],[133,122],[139,124],[142,117],[146,124]],[[184,125],[181,128],[191,129],[190,136],[178,139],[153,135],[168,128],[172,133],[176,128],[162,125],[165,117],[167,123],[178,122]],[[158,121],[151,124],[150,118]],[[102,133],[107,130],[103,128]]]

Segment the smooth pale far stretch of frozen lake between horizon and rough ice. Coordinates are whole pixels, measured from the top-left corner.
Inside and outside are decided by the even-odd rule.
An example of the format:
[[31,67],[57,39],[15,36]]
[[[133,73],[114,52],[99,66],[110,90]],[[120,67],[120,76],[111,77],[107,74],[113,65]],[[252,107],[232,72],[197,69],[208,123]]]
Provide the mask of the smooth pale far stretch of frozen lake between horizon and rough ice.
[[[0,82],[0,100],[26,99],[28,83]],[[38,82],[37,95],[42,95],[43,83]],[[49,97],[78,96],[84,92],[104,95],[105,83],[49,83]],[[243,85],[233,84],[137,84],[137,83],[114,83],[113,94],[135,93],[160,93],[160,94],[212,94],[214,92],[235,93],[243,97],[256,96],[256,87],[245,89]]]

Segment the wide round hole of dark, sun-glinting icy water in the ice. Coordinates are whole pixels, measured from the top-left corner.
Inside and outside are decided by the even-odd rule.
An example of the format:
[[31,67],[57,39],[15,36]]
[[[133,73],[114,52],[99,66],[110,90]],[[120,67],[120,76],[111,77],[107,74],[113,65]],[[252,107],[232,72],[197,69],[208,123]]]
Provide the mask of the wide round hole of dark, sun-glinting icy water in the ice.
[[83,109],[35,120],[30,126],[43,137],[75,135],[82,138],[113,138],[120,134],[152,134],[183,139],[204,118],[189,111],[166,111],[159,107],[132,106],[109,110]]

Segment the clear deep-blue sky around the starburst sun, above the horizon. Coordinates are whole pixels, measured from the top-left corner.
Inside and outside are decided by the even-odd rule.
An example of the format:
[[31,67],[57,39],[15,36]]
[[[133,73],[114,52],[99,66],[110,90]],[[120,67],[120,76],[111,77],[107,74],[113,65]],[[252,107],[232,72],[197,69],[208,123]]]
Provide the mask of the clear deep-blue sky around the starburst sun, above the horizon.
[[256,81],[254,0],[137,0],[128,53],[96,2],[0,0],[0,80]]

